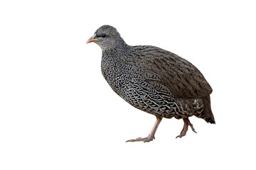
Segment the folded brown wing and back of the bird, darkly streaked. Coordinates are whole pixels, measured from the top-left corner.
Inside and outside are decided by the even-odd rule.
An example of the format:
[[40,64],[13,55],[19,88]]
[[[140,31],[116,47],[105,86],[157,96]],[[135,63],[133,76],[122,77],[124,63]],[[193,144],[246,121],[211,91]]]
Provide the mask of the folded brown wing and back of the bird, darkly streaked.
[[132,69],[152,86],[165,86],[174,98],[201,98],[213,91],[190,62],[154,46],[132,46]]

